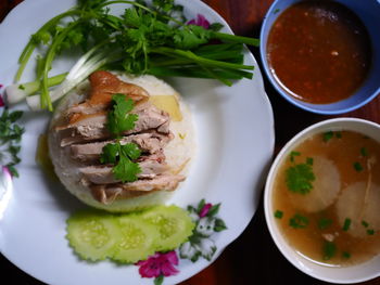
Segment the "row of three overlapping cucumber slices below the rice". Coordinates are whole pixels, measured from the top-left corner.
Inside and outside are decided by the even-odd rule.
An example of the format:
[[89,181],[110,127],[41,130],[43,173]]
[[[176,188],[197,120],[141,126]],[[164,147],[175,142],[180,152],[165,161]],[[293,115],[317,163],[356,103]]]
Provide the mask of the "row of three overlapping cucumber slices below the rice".
[[188,212],[176,206],[127,215],[86,210],[67,219],[66,237],[83,259],[135,263],[155,251],[177,248],[192,234],[194,225]]

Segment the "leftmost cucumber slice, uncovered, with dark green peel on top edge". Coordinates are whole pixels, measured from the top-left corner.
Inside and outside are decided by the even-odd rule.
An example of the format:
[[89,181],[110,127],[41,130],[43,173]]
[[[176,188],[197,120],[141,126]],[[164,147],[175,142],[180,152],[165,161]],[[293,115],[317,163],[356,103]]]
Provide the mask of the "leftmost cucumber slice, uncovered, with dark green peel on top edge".
[[117,224],[104,212],[85,210],[67,219],[66,238],[83,259],[98,261],[113,256],[121,237]]

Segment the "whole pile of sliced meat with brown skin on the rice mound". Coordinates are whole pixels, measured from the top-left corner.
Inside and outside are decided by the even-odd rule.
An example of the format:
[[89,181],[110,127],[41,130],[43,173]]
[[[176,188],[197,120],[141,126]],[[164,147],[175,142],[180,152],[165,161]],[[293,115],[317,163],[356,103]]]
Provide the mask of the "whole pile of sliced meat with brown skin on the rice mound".
[[[88,190],[88,194],[102,204],[155,191],[174,191],[185,177],[173,174],[166,163],[164,148],[174,139],[169,115],[149,102],[149,93],[143,88],[121,81],[113,74],[96,72],[89,80],[88,98],[79,104],[66,105],[51,130],[54,147],[64,151],[65,159],[75,167],[71,173],[75,176],[76,185]],[[130,114],[138,115],[135,128],[117,139],[106,126],[115,93],[131,99],[135,106]],[[139,164],[141,172],[136,181],[123,183],[113,173],[115,165],[101,164],[103,147],[110,143],[135,143],[139,147],[141,156],[134,163]]]

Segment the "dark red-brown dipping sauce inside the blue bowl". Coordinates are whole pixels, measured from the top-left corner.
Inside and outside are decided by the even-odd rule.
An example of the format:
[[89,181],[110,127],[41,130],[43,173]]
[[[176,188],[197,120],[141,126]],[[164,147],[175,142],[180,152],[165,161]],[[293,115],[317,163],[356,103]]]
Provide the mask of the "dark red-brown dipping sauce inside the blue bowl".
[[370,67],[370,46],[364,24],[344,5],[301,1],[273,25],[267,59],[289,94],[327,104],[349,98],[362,86]]

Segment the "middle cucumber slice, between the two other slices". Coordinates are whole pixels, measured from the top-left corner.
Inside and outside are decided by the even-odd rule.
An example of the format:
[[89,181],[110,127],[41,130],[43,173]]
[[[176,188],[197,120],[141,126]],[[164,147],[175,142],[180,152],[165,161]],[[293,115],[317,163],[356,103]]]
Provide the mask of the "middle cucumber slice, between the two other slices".
[[159,238],[154,226],[145,223],[138,215],[124,215],[117,221],[122,238],[112,259],[135,263],[154,254],[153,242]]

